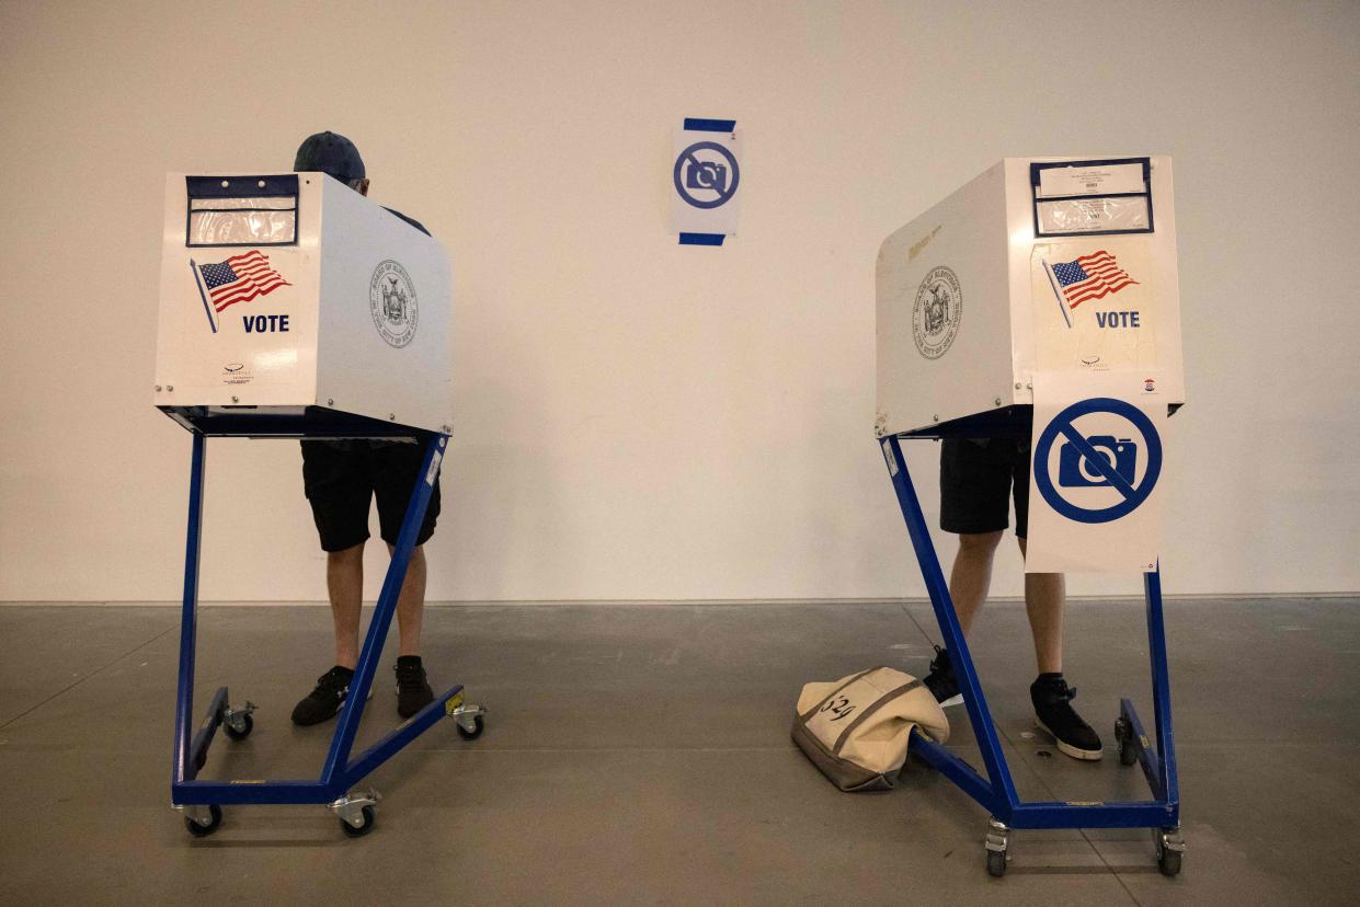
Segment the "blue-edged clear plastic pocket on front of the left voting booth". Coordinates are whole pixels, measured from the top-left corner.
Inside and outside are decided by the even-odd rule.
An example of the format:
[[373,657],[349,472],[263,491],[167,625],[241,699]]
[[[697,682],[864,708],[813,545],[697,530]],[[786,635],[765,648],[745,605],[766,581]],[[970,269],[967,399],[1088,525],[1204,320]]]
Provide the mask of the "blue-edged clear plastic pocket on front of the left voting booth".
[[185,177],[185,245],[294,246],[298,175]]

